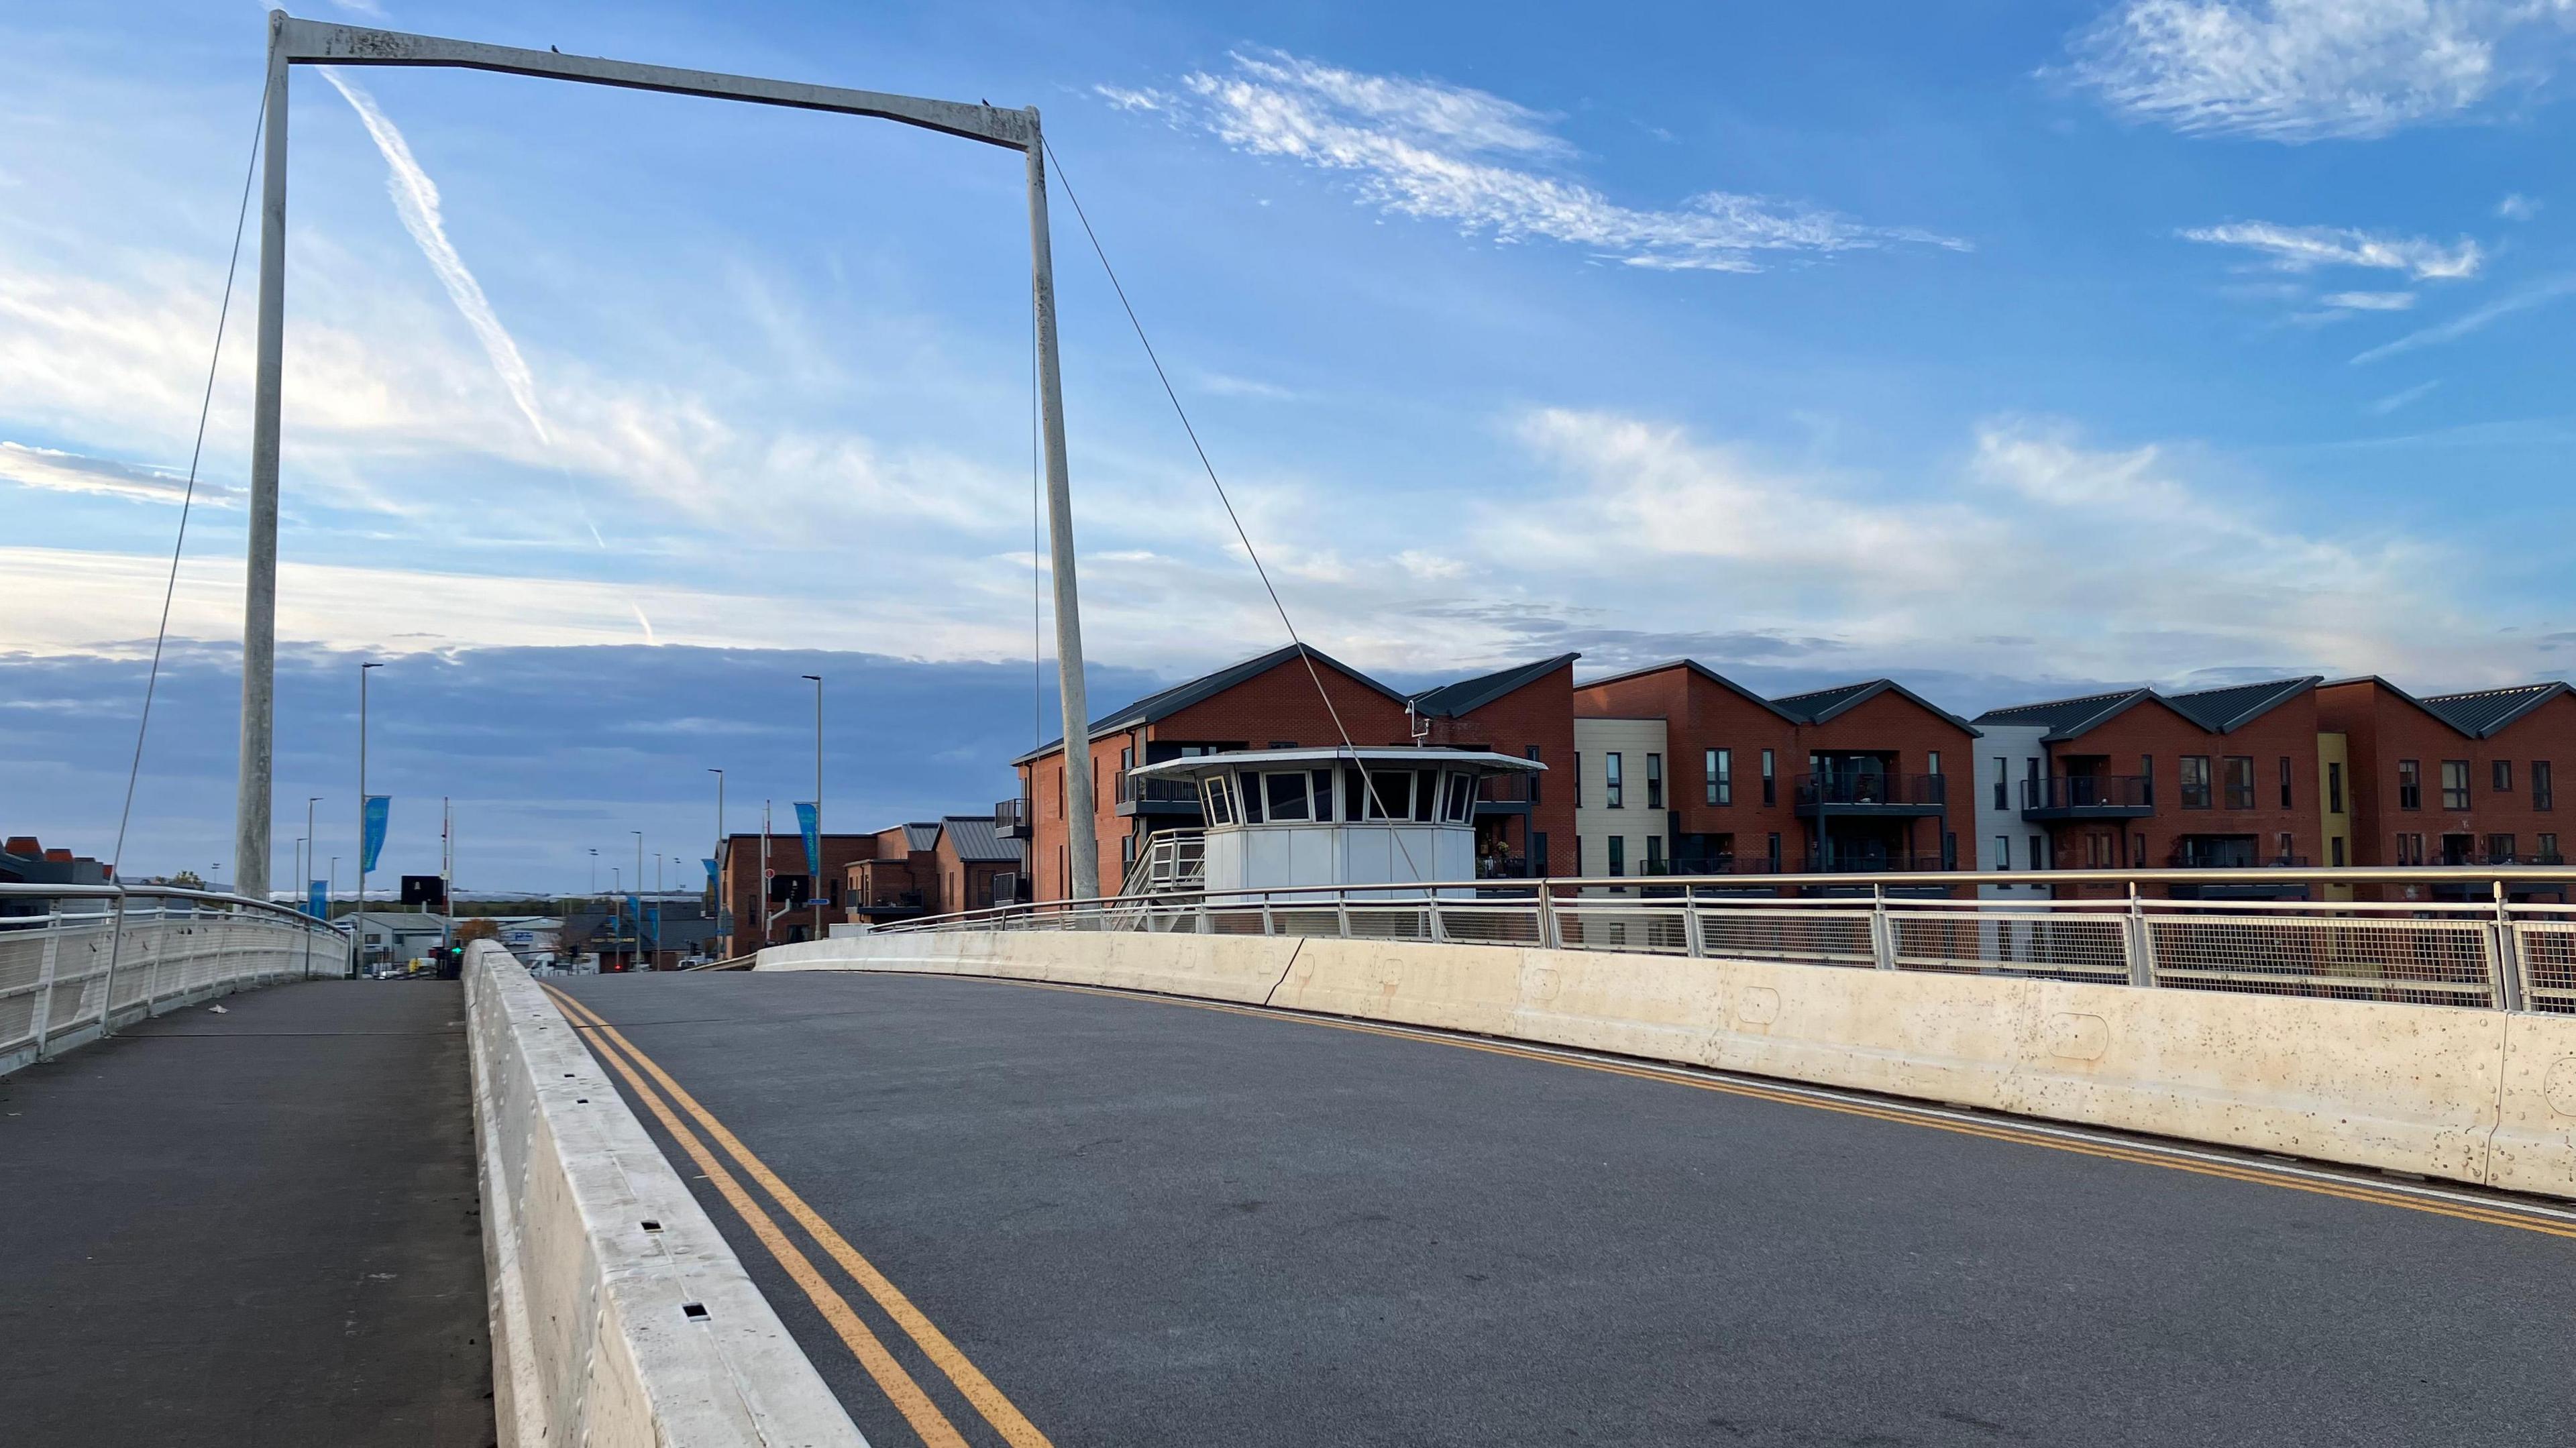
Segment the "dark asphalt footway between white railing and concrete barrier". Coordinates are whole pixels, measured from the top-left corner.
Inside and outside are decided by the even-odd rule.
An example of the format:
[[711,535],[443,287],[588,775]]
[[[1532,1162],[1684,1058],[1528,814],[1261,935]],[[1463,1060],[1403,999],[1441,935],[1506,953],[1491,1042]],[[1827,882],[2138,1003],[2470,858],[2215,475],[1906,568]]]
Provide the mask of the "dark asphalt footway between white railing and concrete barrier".
[[0,1077],[0,1440],[484,1448],[464,995],[219,1005]]

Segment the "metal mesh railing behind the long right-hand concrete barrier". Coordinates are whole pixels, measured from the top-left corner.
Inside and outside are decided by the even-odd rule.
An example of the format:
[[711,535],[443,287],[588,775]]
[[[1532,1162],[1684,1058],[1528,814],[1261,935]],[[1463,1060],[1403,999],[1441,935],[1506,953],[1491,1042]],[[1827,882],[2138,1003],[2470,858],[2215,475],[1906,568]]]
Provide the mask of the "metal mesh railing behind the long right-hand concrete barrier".
[[[2040,884],[2066,894],[1958,897],[1981,884]],[[2357,899],[2226,897],[2246,886]],[[2375,899],[2385,894],[2398,899]],[[2452,899],[2411,899],[2416,894]],[[1754,884],[1631,876],[1175,889],[971,910],[889,930],[1543,946],[2576,1015],[2571,899],[2576,868],[2568,866],[1942,871]]]

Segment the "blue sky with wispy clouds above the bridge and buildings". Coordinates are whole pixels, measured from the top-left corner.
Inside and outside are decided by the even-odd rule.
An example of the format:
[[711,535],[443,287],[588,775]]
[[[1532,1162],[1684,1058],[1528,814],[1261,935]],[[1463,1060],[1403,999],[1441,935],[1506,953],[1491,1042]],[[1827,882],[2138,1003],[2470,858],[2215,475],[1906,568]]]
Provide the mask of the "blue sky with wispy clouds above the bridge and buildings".
[[[2473,688],[2555,678],[2576,644],[2561,5],[312,15],[1041,106],[1298,626],[1391,678],[1692,652],[1976,709],[2311,670]],[[10,830],[113,835],[260,41],[247,3],[0,18]],[[477,799],[513,840],[495,868],[580,884],[595,832],[696,830],[665,778],[793,796],[811,654],[853,678],[835,716],[909,729],[829,739],[842,822],[1007,788],[1033,585],[1015,157],[343,80],[294,77],[281,636],[325,678],[358,652],[440,670],[397,788]],[[1056,260],[1108,706],[1280,634],[1061,193]],[[245,325],[173,626],[206,680],[240,636],[247,371]],[[474,709],[531,667],[659,742]],[[855,680],[884,670],[956,683],[871,703]],[[229,703],[180,698],[139,868],[227,835]],[[327,729],[281,729],[307,739],[281,776],[337,778]]]

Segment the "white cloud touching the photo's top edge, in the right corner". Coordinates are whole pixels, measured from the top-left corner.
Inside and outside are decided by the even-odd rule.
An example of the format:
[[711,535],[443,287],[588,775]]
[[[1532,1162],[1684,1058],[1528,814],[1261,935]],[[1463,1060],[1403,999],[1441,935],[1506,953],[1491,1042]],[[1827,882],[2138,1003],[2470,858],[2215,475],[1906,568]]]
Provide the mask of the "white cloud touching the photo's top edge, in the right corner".
[[2071,39],[2069,75],[2184,134],[2385,137],[2537,80],[2568,15],[2563,0],[2125,0]]

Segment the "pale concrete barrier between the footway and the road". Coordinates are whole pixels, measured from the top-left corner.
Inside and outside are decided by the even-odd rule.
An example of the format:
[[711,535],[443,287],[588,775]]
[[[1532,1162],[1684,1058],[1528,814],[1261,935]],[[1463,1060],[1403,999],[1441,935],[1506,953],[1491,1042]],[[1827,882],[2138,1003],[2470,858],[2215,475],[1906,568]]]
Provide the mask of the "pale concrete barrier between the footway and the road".
[[466,958],[502,1448],[866,1448],[572,1025]]

